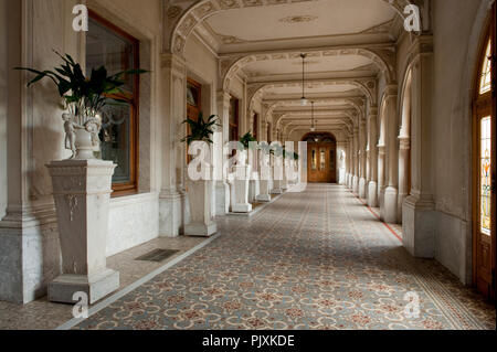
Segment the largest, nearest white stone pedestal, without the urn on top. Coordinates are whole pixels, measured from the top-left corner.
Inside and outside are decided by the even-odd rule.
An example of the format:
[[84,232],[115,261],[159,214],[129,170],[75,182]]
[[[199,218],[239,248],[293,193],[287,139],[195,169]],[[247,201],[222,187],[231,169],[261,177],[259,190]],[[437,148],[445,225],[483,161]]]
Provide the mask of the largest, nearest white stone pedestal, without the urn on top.
[[115,164],[102,160],[54,161],[52,175],[62,250],[62,275],[49,284],[49,300],[74,303],[85,292],[94,303],[119,288],[107,268],[106,239]]

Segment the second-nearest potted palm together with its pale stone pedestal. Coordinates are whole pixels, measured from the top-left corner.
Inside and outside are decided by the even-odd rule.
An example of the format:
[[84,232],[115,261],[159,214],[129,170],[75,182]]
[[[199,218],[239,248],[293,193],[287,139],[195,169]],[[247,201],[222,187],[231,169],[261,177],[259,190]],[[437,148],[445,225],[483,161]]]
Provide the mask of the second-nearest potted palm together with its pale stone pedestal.
[[[200,113],[197,120],[187,118],[183,124],[189,126],[188,135],[181,139],[186,142],[190,154],[201,151],[203,160],[193,159],[188,166],[187,196],[190,203],[190,223],[184,226],[184,235],[210,237],[218,232],[212,210],[214,181],[210,146],[213,143],[214,128],[220,126],[218,116],[208,119]],[[200,167],[200,172],[199,172]]]

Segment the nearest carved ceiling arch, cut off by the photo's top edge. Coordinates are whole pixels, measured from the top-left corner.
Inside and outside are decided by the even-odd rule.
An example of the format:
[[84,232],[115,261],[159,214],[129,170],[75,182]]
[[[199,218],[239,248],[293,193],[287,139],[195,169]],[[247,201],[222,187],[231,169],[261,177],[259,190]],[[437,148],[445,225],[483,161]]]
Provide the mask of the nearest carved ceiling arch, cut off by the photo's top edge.
[[[193,3],[187,2],[186,4],[170,1],[165,6],[165,19],[167,19],[169,23],[169,25],[165,25],[165,51],[170,51],[173,54],[182,56],[187,39],[197,24],[220,12],[245,7],[269,7],[304,1],[316,0],[199,0]],[[409,4],[414,4],[413,0],[379,1],[392,7],[401,18],[404,17],[403,9]],[[421,23],[424,24],[423,13],[420,13],[420,17]]]

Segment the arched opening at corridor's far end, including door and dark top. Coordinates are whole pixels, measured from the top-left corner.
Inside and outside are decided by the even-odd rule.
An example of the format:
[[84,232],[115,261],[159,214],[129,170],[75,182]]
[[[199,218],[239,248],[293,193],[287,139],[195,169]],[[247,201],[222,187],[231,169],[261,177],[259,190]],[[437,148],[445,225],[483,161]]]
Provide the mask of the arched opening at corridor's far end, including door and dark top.
[[337,139],[329,132],[310,132],[307,142],[307,181],[337,183]]

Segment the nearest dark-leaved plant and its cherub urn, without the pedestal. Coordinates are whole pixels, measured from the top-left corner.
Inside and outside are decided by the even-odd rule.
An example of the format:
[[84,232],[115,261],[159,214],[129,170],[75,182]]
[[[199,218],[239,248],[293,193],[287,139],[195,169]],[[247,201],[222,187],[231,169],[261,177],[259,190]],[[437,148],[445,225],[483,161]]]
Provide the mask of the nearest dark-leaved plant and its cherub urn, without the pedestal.
[[55,52],[63,63],[53,71],[39,71],[28,67],[14,70],[28,71],[35,74],[28,83],[31,85],[49,78],[57,88],[63,99],[65,113],[62,115],[65,131],[65,149],[73,152],[70,159],[95,159],[94,151],[98,150],[98,134],[102,128],[103,109],[108,104],[124,103],[113,95],[120,94],[120,87],[125,85],[123,77],[126,75],[139,75],[145,70],[128,70],[109,75],[102,66],[92,70],[91,76],[83,74],[83,68],[71,55],[62,55]]

